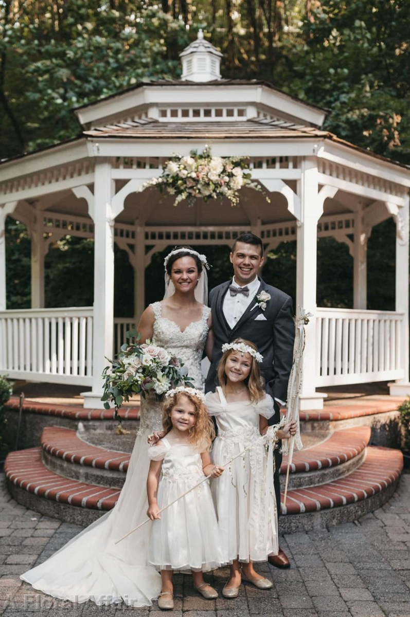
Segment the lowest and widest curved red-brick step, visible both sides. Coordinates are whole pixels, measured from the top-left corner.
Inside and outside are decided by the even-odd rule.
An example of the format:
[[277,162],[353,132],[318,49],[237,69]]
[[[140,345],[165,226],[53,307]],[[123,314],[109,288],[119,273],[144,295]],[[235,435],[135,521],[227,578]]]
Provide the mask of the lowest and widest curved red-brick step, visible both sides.
[[[402,469],[403,455],[398,450],[367,447],[364,463],[345,478],[290,490],[286,507],[282,504],[280,530],[292,532],[351,521],[379,508],[393,494]],[[41,460],[41,447],[10,452],[4,471],[17,502],[83,525],[111,510],[120,492],[50,471]]]

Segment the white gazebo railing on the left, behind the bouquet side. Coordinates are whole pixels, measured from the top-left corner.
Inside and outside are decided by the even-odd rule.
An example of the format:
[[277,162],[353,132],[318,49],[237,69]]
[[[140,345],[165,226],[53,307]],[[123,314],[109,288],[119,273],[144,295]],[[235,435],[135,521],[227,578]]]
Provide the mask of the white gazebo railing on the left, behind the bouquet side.
[[0,312],[0,374],[91,385],[93,308]]

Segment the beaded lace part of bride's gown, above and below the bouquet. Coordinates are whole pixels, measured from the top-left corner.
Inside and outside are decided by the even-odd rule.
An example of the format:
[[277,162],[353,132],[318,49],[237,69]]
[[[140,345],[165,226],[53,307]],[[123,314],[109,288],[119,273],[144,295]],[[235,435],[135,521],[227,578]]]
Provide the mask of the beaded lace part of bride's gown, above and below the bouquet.
[[[202,317],[199,321],[191,321],[185,330],[166,317],[162,317],[161,304],[154,302],[155,321],[153,325],[153,343],[165,347],[172,355],[181,358],[188,366],[188,375],[192,383],[199,390],[204,390],[204,376],[201,371],[201,360],[208,333],[207,320],[211,309],[204,305]],[[161,406],[154,395],[141,399],[140,431],[152,433],[162,430]]]

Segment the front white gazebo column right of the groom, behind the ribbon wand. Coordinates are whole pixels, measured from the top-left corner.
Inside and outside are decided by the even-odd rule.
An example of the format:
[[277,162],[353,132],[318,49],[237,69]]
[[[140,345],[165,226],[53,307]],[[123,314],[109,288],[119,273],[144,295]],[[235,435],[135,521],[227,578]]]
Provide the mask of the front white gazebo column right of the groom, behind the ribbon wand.
[[301,221],[296,230],[296,307],[303,307],[313,317],[306,326],[306,346],[303,363],[303,386],[299,397],[301,410],[322,409],[325,394],[316,392],[316,271],[317,271],[317,221],[321,201],[317,183],[317,163],[307,157],[301,163],[302,177],[298,181],[301,199]]

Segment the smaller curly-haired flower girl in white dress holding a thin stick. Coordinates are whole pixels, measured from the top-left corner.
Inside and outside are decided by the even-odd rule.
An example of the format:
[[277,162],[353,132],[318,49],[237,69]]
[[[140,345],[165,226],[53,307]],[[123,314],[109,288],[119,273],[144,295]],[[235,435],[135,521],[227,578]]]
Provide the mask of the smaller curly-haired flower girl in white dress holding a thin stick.
[[161,571],[158,606],[162,609],[174,608],[174,569],[190,569],[194,586],[204,598],[218,595],[203,579],[203,572],[219,568],[222,563],[219,528],[208,482],[159,513],[205,476],[217,478],[222,474],[223,470],[211,463],[209,449],[214,426],[204,403],[204,394],[193,388],[181,386],[167,392],[163,405],[165,436],[148,449],[151,464],[147,514],[154,521],[148,560]]

